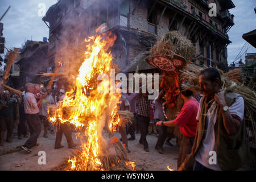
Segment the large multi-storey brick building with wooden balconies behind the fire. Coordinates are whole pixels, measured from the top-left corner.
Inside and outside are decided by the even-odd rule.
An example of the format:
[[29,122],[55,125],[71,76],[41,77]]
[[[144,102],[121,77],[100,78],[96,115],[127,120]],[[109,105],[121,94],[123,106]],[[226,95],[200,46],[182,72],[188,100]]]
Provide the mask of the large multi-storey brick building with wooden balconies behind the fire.
[[[209,3],[217,6],[216,17],[208,15]],[[195,44],[192,61],[226,71],[226,47],[231,43],[227,32],[234,25],[229,9],[234,7],[231,0],[60,0],[43,18],[49,27],[48,70],[64,59],[63,69],[68,69],[79,57],[77,50],[84,38],[101,26],[117,35],[112,53],[123,72],[135,71],[137,66],[141,71],[153,69],[144,59],[156,40],[170,30]]]

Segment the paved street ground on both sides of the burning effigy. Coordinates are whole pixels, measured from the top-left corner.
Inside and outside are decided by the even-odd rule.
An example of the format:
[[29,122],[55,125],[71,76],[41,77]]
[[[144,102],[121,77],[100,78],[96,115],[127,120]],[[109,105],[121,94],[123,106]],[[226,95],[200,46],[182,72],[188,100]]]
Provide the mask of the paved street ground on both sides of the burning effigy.
[[[117,138],[120,138],[119,133],[115,134]],[[4,143],[4,146],[0,147],[0,170],[1,171],[15,171],[15,170],[28,170],[28,171],[38,171],[38,170],[51,170],[53,167],[61,164],[63,160],[67,159],[70,154],[76,149],[69,149],[67,141],[63,135],[62,144],[64,148],[58,150],[54,149],[55,144],[55,134],[48,134],[49,138],[43,138],[43,131],[38,139],[39,146],[32,148],[32,154],[26,154],[22,150],[16,149],[16,147],[21,146],[27,140],[27,138],[22,138],[18,140],[18,137],[14,133],[13,143]],[[164,144],[164,154],[159,154],[155,150],[155,143],[157,137],[155,134],[147,135],[147,141],[149,144],[150,152],[145,152],[143,150],[142,144],[139,144],[140,134],[136,134],[136,139],[129,141],[130,153],[128,154],[129,159],[140,168],[148,170],[168,170],[167,166],[173,169],[177,169],[177,156],[179,152],[179,147],[168,146]],[[73,133],[73,139],[75,143],[80,143],[79,139],[76,139],[76,134]],[[171,142],[176,145],[175,140]],[[77,148],[79,149],[79,147]],[[46,152],[46,165],[38,164],[39,151]],[[11,153],[9,153],[11,152]]]

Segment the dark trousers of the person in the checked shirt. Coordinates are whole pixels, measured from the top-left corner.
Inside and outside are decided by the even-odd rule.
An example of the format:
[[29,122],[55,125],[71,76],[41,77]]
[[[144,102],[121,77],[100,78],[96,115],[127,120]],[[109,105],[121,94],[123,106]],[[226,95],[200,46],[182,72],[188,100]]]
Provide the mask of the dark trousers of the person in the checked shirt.
[[138,115],[138,123],[139,123],[139,129],[141,130],[141,139],[139,139],[139,142],[141,142],[144,146],[144,149],[146,149],[148,148],[146,137],[147,137],[148,125],[150,123],[150,118],[144,117],[142,115]]

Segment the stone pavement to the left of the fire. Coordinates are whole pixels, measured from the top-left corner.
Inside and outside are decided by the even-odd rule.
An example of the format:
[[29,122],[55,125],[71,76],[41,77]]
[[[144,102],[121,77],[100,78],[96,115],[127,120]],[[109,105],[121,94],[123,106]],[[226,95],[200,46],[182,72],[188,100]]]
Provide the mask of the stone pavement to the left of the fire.
[[[38,171],[38,170],[51,170],[56,164],[63,162],[65,158],[68,158],[74,149],[69,149],[67,140],[64,137],[61,144],[64,148],[54,149],[55,145],[55,135],[49,134],[49,138],[43,138],[43,130],[41,131],[40,137],[38,138],[39,146],[32,147],[32,154],[27,154],[23,150],[13,152],[11,154],[2,155],[4,152],[15,150],[17,146],[21,146],[27,140],[27,138],[22,138],[18,140],[18,136],[13,137],[13,143],[4,143],[4,146],[0,147],[0,170],[1,171]],[[75,143],[80,143],[79,139],[76,139],[75,133],[73,133],[73,140]],[[46,152],[46,165],[38,164],[39,151]]]

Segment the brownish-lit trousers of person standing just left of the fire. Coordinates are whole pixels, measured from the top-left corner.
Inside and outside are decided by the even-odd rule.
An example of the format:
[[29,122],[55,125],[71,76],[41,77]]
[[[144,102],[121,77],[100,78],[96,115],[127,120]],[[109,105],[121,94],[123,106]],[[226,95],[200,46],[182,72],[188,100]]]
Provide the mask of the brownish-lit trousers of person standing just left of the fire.
[[67,139],[68,147],[71,148],[74,145],[74,142],[72,139],[72,128],[68,123],[59,123],[57,125],[55,148],[61,146],[61,140],[62,140],[63,133],[65,135],[65,138]]

